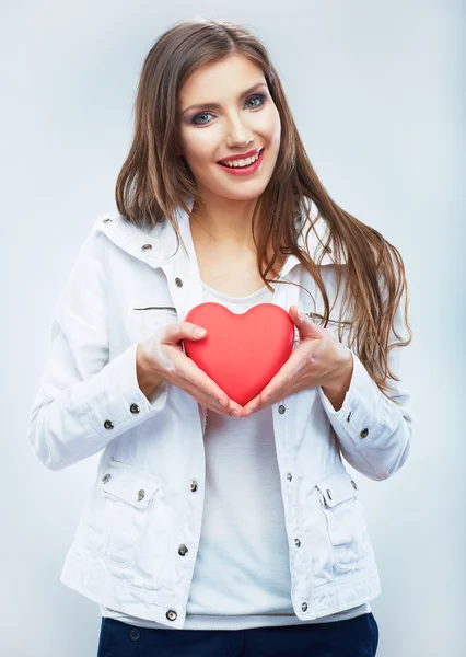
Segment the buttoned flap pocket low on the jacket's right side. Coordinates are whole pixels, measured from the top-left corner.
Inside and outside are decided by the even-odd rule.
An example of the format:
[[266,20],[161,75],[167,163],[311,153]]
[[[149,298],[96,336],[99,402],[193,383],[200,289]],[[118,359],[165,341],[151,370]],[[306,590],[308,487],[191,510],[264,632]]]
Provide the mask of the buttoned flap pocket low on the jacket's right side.
[[335,565],[341,569],[361,566],[370,551],[357,483],[345,471],[325,476],[316,484],[316,488]]

